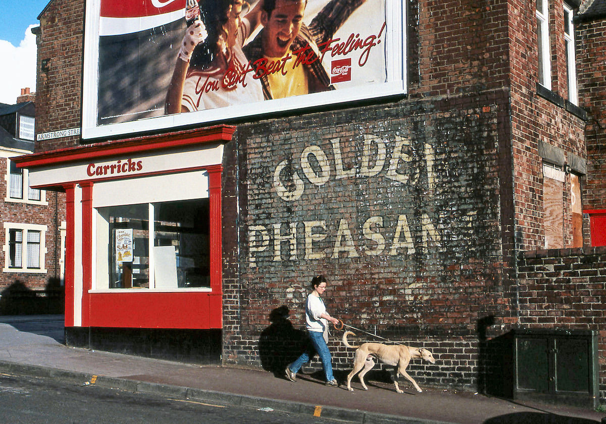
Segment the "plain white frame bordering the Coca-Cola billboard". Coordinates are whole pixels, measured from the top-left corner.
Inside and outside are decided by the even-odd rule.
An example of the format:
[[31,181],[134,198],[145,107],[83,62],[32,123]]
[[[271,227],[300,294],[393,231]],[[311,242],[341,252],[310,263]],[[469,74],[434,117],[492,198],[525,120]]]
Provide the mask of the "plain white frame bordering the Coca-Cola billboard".
[[[372,1],[372,0],[368,0]],[[168,114],[153,118],[114,124],[97,125],[98,111],[98,58],[99,15],[101,0],[87,0],[84,31],[84,66],[82,76],[82,139],[116,137],[127,134],[147,133],[225,122],[236,118],[255,116],[326,106],[346,104],[366,99],[396,96],[407,93],[407,2],[385,0],[385,58],[387,82],[372,84],[371,90],[351,87],[335,91],[305,94],[284,99],[272,99],[250,104]],[[361,89],[362,88],[362,89]]]

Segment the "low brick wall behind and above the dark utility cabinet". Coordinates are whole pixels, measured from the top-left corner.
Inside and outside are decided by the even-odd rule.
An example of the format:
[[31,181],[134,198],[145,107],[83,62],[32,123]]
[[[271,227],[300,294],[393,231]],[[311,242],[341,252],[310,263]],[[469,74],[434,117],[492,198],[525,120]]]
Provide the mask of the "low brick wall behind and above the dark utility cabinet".
[[520,255],[520,324],[599,332],[599,390],[606,397],[606,247]]

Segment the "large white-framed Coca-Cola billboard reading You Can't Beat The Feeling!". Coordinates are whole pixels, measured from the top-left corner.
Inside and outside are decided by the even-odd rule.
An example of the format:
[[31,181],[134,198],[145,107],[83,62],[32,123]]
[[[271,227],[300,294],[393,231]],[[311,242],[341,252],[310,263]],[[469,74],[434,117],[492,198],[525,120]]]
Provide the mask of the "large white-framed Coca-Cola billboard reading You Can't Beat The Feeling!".
[[91,0],[82,137],[404,93],[401,0]]

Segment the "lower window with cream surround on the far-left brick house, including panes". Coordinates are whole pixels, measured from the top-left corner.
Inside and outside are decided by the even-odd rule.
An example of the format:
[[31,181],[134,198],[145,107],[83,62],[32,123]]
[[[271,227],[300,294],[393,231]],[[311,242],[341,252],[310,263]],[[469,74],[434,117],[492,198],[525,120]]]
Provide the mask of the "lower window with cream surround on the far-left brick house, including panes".
[[4,223],[4,272],[45,273],[46,225]]

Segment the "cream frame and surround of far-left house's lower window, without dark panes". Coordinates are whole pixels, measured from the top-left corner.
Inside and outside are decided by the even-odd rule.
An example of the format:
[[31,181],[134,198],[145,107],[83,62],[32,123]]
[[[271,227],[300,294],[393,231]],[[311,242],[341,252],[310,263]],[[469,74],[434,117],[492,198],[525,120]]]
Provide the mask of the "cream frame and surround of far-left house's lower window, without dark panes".
[[[45,268],[45,257],[46,257],[46,232],[48,231],[47,225],[39,224],[22,224],[19,222],[4,222],[4,267],[2,272],[4,273],[32,273],[32,274],[45,274],[47,272]],[[21,231],[21,263],[18,267],[10,267],[10,230]],[[30,240],[33,234],[38,233],[40,235],[39,241]],[[29,234],[29,236],[28,236]],[[31,251],[32,247],[36,246],[35,251]],[[30,259],[38,259],[38,266],[35,267]]]

